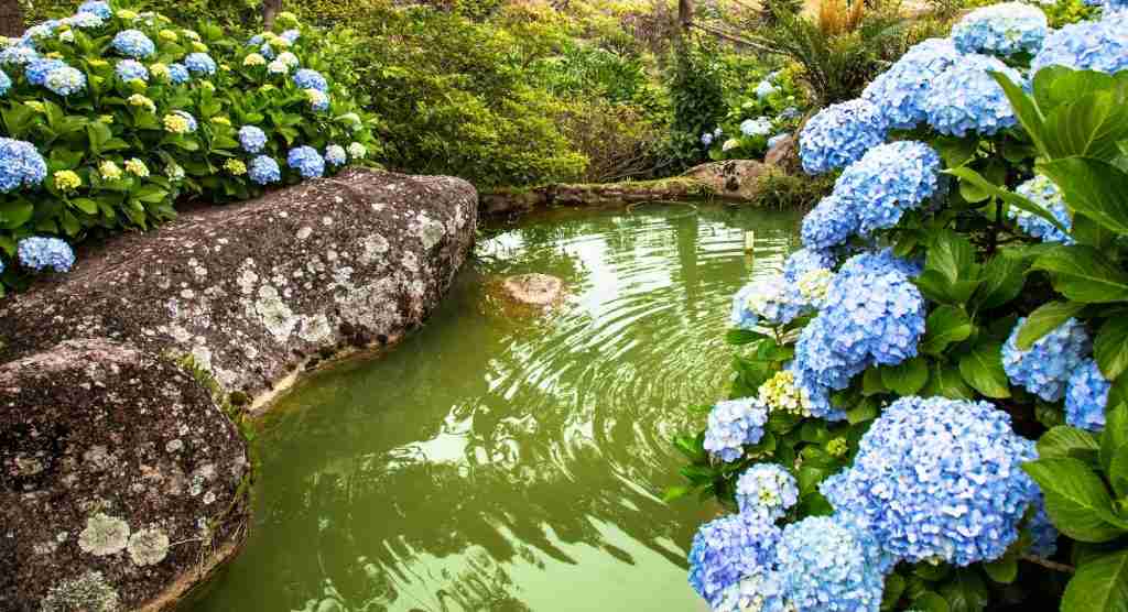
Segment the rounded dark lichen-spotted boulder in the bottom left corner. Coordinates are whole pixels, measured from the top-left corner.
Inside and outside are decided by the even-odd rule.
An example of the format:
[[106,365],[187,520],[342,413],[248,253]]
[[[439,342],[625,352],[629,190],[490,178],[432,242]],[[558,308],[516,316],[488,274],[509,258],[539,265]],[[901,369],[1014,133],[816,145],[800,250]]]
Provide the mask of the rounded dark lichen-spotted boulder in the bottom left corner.
[[74,340],[0,365],[0,610],[165,597],[243,538],[248,470],[211,392],[166,358]]

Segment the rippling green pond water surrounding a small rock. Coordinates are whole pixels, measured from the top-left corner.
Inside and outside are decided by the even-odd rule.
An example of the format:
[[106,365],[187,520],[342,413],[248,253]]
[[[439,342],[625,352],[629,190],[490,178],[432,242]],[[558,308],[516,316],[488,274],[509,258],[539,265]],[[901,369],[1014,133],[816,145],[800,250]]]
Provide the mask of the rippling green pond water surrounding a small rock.
[[[488,232],[422,330],[282,399],[249,542],[186,607],[703,610],[685,557],[712,511],[661,502],[669,438],[724,396],[730,299],[799,216],[659,204]],[[490,290],[528,272],[564,278],[552,313]]]

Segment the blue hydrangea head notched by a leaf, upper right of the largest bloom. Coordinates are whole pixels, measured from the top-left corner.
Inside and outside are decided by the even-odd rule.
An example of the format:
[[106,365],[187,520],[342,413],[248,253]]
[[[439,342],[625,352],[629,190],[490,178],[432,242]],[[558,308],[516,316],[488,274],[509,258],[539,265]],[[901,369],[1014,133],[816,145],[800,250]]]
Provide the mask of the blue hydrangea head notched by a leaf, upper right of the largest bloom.
[[1025,321],[1025,317],[1019,319],[1003,345],[1003,370],[1013,384],[1046,401],[1058,401],[1065,394],[1069,375],[1089,354],[1092,346],[1089,334],[1076,319],[1069,319],[1039,338],[1029,351],[1020,351],[1019,330]]

